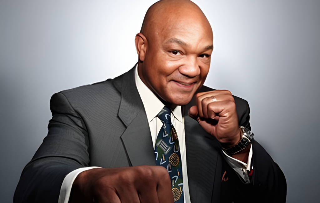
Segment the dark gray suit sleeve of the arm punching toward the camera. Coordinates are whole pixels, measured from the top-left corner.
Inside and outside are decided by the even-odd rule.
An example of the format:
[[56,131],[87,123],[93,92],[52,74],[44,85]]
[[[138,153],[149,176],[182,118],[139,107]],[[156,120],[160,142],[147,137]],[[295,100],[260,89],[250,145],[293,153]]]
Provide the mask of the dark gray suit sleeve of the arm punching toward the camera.
[[61,184],[71,171],[89,164],[89,139],[81,116],[62,93],[50,101],[48,135],[23,169],[13,202],[58,202]]

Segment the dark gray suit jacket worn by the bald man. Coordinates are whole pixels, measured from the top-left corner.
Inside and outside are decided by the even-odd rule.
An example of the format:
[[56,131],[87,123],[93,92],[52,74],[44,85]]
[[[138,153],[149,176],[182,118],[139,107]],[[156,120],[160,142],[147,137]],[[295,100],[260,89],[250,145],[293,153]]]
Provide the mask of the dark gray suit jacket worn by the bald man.
[[[198,92],[210,90],[203,86]],[[239,125],[251,129],[247,101],[234,98]],[[252,143],[255,171],[252,183],[245,185],[225,163],[218,141],[188,116],[194,104],[193,99],[182,106],[191,202],[270,201],[270,195],[284,202],[284,175],[260,144]],[[56,93],[50,106],[48,135],[22,171],[14,202],[57,202],[64,177],[77,168],[155,165],[134,68],[114,79]],[[230,173],[229,182],[221,182],[224,171]]]

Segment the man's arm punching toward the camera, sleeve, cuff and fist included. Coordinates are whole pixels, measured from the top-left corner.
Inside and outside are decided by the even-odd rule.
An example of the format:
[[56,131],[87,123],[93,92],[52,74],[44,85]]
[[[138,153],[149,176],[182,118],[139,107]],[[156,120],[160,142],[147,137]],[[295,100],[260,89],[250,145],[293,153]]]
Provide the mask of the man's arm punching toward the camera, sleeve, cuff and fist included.
[[65,193],[60,201],[63,195],[68,201],[61,185],[70,173],[69,202],[173,202],[171,180],[162,166],[92,168],[77,174],[90,162],[84,121],[62,93],[54,94],[50,105],[48,136],[24,168],[14,202],[58,202],[60,188]]

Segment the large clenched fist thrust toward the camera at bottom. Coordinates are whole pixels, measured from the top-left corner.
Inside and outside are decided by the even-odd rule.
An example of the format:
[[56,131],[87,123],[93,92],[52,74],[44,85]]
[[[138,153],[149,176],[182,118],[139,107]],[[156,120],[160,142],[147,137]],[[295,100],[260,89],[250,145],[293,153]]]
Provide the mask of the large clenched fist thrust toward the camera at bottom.
[[173,203],[171,181],[162,166],[94,168],[74,181],[69,202]]

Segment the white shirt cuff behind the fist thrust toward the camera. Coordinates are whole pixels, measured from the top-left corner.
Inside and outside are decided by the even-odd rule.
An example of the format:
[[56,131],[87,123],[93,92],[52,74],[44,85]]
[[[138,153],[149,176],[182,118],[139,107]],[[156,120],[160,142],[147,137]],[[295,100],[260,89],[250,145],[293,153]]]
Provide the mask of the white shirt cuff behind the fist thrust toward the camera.
[[76,177],[83,171],[92,169],[92,168],[101,168],[101,167],[84,167],[84,168],[78,168],[74,171],[71,171],[68,173],[68,175],[63,179],[61,189],[60,189],[60,195],[59,195],[59,200],[58,203],[68,203],[69,197],[70,197],[70,192],[72,188],[72,184],[75,181]]

